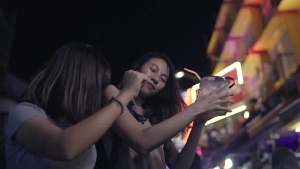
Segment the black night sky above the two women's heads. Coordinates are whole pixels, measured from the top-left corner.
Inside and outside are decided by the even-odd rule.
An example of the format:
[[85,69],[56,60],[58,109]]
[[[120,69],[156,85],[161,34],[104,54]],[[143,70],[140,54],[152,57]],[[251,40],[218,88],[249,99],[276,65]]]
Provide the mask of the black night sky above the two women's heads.
[[[99,47],[117,84],[128,64],[150,51],[169,55],[176,71],[212,73],[205,55],[221,0],[48,1],[20,5],[8,71],[30,80],[55,49],[69,42]],[[193,82],[180,80],[183,88]]]

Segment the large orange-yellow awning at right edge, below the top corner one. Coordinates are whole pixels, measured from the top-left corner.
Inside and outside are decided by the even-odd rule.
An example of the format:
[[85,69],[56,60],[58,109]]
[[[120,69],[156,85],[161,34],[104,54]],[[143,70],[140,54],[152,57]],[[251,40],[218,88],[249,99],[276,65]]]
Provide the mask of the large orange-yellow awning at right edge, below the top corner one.
[[[262,36],[259,38],[259,40],[255,43],[252,50],[253,51],[267,51],[269,54],[272,55],[272,62],[275,62],[276,59],[275,56],[277,54],[282,55],[281,57],[294,57],[295,64],[289,65],[289,67],[286,67],[281,70],[281,77],[280,80],[275,82],[275,90],[280,88],[284,83],[284,77],[289,78],[290,75],[296,70],[297,65],[300,64],[300,14],[298,11],[279,11],[276,13],[275,16],[270,20],[269,24],[263,31]],[[285,54],[285,51],[278,51],[279,48],[277,45],[279,45],[279,42],[283,43],[290,43],[290,46],[286,46],[283,48],[284,50],[287,50],[288,47],[290,47],[289,51],[290,53]],[[280,47],[280,46],[279,46]],[[282,49],[280,49],[282,50]],[[283,53],[282,53],[283,52]],[[292,55],[292,56],[289,56]],[[282,69],[281,64],[283,62],[287,62],[288,58],[281,58],[282,63],[278,63],[277,67],[278,69]],[[291,61],[289,61],[291,62]],[[276,65],[273,65],[276,66]]]

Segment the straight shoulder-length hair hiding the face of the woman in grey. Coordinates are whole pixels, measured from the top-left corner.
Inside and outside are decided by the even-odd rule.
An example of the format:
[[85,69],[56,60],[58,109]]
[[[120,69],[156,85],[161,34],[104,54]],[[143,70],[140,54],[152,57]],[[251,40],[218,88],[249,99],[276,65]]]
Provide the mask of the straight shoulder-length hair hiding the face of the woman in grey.
[[110,83],[108,62],[91,45],[71,43],[57,49],[31,80],[24,101],[53,119],[80,122],[101,108],[102,88]]

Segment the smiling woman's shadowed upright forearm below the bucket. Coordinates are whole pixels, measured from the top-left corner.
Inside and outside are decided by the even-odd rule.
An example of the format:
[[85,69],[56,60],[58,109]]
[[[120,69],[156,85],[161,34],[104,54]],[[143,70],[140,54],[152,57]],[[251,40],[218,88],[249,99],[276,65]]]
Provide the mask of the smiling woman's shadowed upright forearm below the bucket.
[[194,124],[188,141],[181,152],[177,155],[176,162],[172,169],[189,169],[197,149],[198,141],[205,123]]

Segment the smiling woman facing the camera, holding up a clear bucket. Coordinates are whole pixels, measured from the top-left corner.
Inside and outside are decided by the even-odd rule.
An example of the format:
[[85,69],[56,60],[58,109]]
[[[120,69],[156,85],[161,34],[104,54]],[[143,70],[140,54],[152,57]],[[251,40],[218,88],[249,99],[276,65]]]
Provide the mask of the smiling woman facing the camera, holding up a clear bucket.
[[[188,169],[196,152],[197,143],[205,122],[231,112],[223,103],[233,103],[218,88],[209,95],[198,94],[197,100],[186,107],[175,78],[173,65],[161,53],[148,53],[137,60],[131,74],[144,74],[150,80],[142,83],[139,95],[124,109],[102,142],[109,168],[117,169]],[[118,90],[109,85],[104,90],[106,102],[124,90],[124,80]],[[204,114],[224,111],[224,113]],[[192,121],[188,142],[179,153],[171,138]],[[96,165],[97,166],[97,165]],[[101,166],[101,164],[100,164]]]

